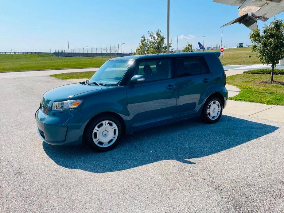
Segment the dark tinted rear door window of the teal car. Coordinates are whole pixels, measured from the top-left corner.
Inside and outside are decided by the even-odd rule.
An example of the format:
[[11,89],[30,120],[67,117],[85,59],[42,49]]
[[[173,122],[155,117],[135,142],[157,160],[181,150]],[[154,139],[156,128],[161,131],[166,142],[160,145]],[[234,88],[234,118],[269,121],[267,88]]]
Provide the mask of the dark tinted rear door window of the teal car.
[[208,73],[208,67],[203,57],[177,58],[177,77],[194,76]]

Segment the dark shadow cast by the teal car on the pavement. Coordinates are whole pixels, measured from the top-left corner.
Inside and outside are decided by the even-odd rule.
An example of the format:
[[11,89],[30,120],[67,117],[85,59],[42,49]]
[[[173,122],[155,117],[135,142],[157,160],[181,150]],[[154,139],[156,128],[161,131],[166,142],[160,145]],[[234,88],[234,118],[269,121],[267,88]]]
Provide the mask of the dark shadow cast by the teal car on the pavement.
[[59,147],[45,142],[43,149],[56,164],[66,168],[113,172],[162,160],[194,164],[194,158],[233,148],[277,129],[223,115],[216,124],[193,119],[126,135],[115,149],[104,153],[96,153],[88,145]]

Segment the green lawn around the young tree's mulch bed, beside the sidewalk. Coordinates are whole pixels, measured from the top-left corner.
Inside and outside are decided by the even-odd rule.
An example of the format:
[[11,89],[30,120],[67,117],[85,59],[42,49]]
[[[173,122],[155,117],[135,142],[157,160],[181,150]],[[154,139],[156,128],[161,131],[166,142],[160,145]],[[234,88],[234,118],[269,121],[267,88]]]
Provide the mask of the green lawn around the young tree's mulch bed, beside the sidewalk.
[[[229,99],[284,106],[284,86],[263,84],[269,81],[269,74],[238,74],[227,77],[227,83],[239,87],[240,93]],[[284,81],[284,75],[274,75],[275,81]]]

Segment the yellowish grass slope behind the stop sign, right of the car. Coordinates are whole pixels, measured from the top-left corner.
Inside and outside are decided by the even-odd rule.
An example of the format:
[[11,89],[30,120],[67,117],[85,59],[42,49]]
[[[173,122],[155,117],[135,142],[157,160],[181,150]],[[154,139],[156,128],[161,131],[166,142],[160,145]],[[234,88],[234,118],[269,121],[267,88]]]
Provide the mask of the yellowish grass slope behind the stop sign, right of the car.
[[[211,52],[219,50],[206,50],[204,52],[208,51]],[[251,58],[248,56],[251,56]],[[262,64],[256,57],[255,52],[251,52],[250,47],[225,49],[224,59],[222,59],[222,56],[219,58],[223,65]]]

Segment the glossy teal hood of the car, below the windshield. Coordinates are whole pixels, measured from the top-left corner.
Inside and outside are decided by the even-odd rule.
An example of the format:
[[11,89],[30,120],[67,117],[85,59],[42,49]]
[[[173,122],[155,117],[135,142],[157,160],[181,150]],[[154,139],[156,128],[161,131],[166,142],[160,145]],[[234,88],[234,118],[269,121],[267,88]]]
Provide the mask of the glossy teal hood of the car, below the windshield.
[[98,86],[95,84],[86,85],[84,83],[72,83],[61,87],[56,87],[45,92],[42,97],[42,103],[45,106],[51,107],[54,101],[66,101],[74,95],[79,95],[84,92],[95,91],[107,88],[106,86]]

